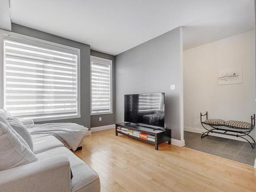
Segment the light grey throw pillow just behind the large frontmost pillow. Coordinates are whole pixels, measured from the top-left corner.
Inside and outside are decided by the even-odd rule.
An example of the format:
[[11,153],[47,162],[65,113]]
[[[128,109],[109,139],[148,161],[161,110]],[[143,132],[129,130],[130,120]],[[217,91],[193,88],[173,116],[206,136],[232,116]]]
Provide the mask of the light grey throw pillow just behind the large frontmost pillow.
[[29,133],[28,129],[24,126],[22,122],[20,122],[17,118],[8,117],[7,122],[11,125],[11,127],[20,135],[22,138],[28,143],[29,148],[33,151],[33,140],[31,134]]

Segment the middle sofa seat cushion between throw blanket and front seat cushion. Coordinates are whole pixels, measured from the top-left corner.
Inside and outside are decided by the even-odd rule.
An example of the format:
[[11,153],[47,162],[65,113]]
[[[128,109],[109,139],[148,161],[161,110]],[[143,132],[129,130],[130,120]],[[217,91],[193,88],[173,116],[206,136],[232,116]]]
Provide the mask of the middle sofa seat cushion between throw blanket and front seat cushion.
[[57,148],[60,146],[64,146],[58,139],[54,136],[45,136],[45,137],[38,137],[33,139],[34,144],[34,153],[42,153],[48,150],[52,150],[53,148]]

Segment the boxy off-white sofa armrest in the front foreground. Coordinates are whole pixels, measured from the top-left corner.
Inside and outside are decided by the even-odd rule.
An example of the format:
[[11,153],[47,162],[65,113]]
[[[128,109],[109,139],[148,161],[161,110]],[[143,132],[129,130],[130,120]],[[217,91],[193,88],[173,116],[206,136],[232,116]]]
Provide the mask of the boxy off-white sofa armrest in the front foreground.
[[36,161],[0,171],[1,192],[70,192],[70,163],[66,157]]

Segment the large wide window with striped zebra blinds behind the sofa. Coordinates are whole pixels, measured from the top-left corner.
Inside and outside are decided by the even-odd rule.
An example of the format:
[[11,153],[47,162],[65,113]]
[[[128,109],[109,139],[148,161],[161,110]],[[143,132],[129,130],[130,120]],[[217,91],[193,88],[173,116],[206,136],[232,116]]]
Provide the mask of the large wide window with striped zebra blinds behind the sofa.
[[35,121],[80,117],[79,54],[48,41],[5,35],[4,108]]

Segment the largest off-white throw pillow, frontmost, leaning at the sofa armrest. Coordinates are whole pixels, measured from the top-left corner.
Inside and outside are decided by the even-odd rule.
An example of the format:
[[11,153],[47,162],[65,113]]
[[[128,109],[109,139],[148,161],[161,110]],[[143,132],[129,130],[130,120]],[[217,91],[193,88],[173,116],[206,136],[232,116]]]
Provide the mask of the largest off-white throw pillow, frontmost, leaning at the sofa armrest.
[[0,122],[0,170],[37,161],[35,154]]

